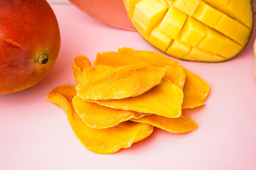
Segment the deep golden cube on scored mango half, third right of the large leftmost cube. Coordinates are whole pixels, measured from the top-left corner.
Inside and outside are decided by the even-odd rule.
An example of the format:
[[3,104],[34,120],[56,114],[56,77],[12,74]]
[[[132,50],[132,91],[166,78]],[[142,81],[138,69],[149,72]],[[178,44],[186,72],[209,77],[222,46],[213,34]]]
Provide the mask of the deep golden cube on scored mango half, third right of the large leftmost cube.
[[225,45],[225,36],[206,26],[206,36],[198,47],[213,54],[217,54]]

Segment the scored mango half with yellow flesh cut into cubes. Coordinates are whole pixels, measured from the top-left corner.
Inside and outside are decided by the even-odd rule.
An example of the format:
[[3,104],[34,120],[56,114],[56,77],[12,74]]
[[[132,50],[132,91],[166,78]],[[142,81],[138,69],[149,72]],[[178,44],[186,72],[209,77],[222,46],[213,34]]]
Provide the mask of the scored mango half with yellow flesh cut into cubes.
[[134,28],[167,55],[224,62],[246,47],[253,30],[250,0],[124,0]]

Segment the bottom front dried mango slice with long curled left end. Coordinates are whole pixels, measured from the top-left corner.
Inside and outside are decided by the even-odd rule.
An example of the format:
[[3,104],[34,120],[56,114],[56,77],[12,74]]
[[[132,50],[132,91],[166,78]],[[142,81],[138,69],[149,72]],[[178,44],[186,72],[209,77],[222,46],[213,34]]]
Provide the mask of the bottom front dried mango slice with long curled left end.
[[[127,148],[134,142],[143,140],[151,135],[153,126],[144,123],[133,123],[130,121],[120,123],[107,129],[89,128],[73,108],[70,94],[75,91],[75,86],[56,87],[46,96],[55,105],[64,109],[68,115],[68,121],[81,141],[82,145],[98,154],[112,154],[119,149]],[[68,98],[65,98],[68,96]]]

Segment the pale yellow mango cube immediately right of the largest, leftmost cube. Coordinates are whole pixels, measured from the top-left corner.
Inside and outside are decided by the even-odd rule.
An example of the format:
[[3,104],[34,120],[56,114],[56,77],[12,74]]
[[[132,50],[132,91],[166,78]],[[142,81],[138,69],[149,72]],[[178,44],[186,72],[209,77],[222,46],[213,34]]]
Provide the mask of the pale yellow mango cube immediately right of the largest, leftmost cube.
[[159,30],[168,35],[170,38],[176,38],[183,24],[186,21],[186,14],[178,10],[174,6],[170,6],[164,16],[163,21],[159,25]]

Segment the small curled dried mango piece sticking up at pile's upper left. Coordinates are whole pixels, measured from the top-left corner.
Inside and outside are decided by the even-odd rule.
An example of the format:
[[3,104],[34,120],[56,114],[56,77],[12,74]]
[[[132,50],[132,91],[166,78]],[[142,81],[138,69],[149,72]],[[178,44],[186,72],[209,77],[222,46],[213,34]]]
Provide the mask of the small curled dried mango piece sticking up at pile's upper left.
[[72,62],[72,69],[73,69],[75,81],[77,81],[78,84],[82,82],[82,71],[86,67],[91,67],[91,66],[92,64],[90,60],[87,57],[85,57],[85,55],[78,55],[77,57],[75,57],[75,59]]

